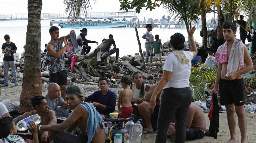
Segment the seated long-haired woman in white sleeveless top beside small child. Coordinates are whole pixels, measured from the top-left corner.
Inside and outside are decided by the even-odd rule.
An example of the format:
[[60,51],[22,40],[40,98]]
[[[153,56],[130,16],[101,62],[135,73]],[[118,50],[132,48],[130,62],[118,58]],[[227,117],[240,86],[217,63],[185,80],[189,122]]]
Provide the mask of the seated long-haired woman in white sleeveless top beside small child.
[[134,72],[132,74],[133,84],[130,89],[132,90],[132,113],[140,116],[140,105],[145,101],[145,93],[148,92],[150,85],[144,84],[143,76],[140,72]]

